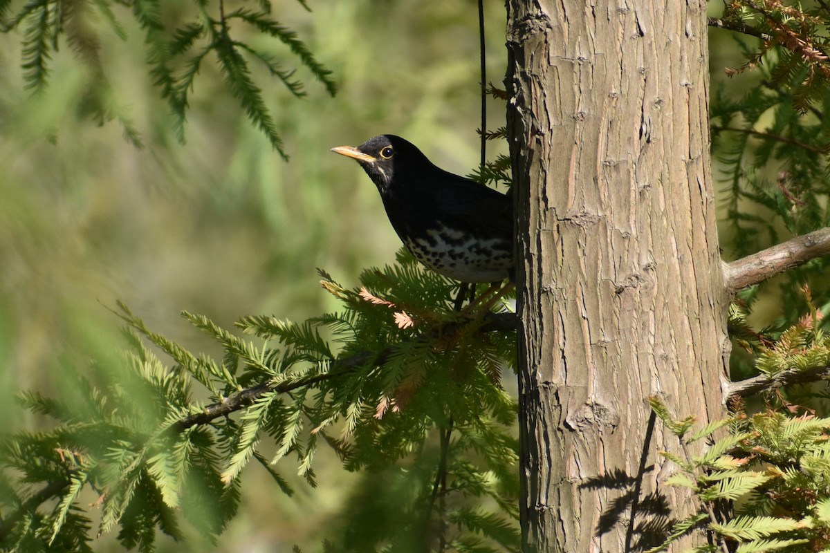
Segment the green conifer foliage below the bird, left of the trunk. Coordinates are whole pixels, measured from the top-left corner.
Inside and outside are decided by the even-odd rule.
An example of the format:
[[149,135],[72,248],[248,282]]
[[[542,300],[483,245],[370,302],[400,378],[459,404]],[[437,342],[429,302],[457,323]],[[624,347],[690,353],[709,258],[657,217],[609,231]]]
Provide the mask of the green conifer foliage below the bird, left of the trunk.
[[[354,512],[381,509],[394,524],[364,520],[362,531],[330,536],[327,551],[516,551],[516,405],[500,385],[514,333],[498,314],[457,313],[448,298],[458,285],[403,251],[398,264],[366,270],[358,289],[321,276],[339,312],[237,323],[268,346],[183,313],[222,345],[221,360],[188,352],[120,305],[126,370],[93,366],[60,399],[20,395],[56,426],[2,440],[2,546],[91,551],[92,536],[117,531],[125,547],[153,551],[157,531],[180,539],[183,523],[215,537],[237,510],[249,463],[291,495],[281,460],[294,458],[314,486],[322,446],[397,490],[393,505],[378,503],[387,491]],[[92,505],[79,500],[90,490]],[[51,497],[59,502],[41,505]],[[90,509],[100,509],[98,528]]]

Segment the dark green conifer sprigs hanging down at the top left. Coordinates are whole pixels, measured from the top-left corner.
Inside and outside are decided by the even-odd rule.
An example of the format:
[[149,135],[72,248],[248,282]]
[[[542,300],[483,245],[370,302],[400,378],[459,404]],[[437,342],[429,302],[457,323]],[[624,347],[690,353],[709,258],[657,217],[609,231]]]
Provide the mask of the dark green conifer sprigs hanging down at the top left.
[[[308,9],[305,2],[300,2]],[[226,12],[225,0],[214,4],[197,2],[193,11],[183,22],[175,25],[165,23],[164,5],[159,0],[130,0],[112,2],[100,0],[89,2],[83,7],[77,2],[64,4],[56,0],[31,0],[12,12],[10,2],[0,3],[0,32],[13,32],[24,27],[22,36],[22,70],[26,86],[33,92],[43,90],[48,83],[49,61],[58,50],[61,37],[66,36],[68,45],[92,67],[96,78],[95,90],[90,90],[90,110],[99,123],[112,119],[120,120],[126,136],[140,145],[139,133],[129,120],[125,109],[120,108],[112,98],[111,87],[106,79],[106,68],[101,63],[101,41],[94,27],[87,21],[100,18],[109,24],[110,30],[122,40],[127,34],[115,16],[114,5],[125,5],[132,10],[131,16],[144,31],[144,48],[150,75],[166,100],[173,115],[173,128],[179,141],[184,141],[184,126],[189,108],[189,96],[193,92],[196,75],[203,69],[208,54],[215,56],[217,67],[224,76],[227,89],[237,99],[248,119],[271,142],[283,158],[287,159],[280,134],[271,109],[257,84],[251,62],[261,66],[268,75],[280,80],[295,98],[305,96],[300,80],[295,79],[295,70],[283,68],[279,58],[252,41],[239,38],[244,36],[242,27],[231,22],[242,22],[254,32],[267,36],[286,46],[299,65],[320,81],[329,95],[334,96],[337,86],[331,75],[310,51],[296,32],[281,25],[271,17],[271,2],[259,2],[259,11],[253,12],[240,7]]]

